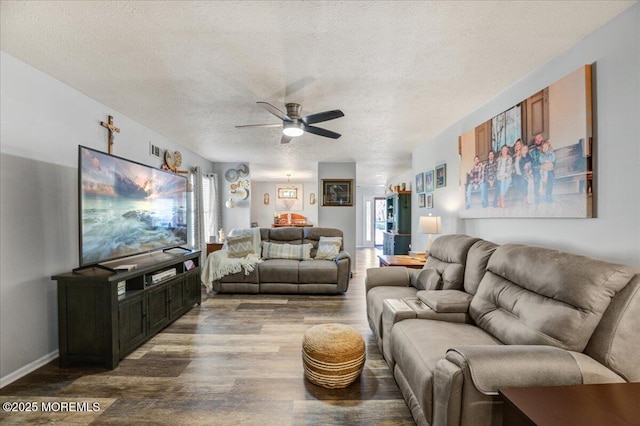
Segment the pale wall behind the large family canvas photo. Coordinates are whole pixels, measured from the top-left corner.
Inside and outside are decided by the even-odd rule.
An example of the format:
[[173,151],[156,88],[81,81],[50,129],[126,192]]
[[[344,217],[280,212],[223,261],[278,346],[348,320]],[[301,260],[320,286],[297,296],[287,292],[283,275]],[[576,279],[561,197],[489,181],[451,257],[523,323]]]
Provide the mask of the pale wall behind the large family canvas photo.
[[[540,67],[413,152],[415,173],[447,163],[447,187],[434,192],[443,233],[520,242],[640,266],[640,4]],[[585,64],[594,66],[594,219],[459,219],[458,136]],[[413,204],[417,218],[428,212]],[[413,228],[414,246],[426,235]]]

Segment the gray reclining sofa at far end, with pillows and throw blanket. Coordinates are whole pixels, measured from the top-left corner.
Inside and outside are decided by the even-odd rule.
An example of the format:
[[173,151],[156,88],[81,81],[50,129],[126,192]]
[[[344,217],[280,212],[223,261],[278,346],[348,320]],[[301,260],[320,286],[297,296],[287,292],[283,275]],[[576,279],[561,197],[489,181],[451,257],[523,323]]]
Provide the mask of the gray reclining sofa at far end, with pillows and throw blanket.
[[335,260],[314,259],[320,237],[343,237],[343,234],[335,228],[260,228],[262,242],[311,243],[312,259],[267,259],[248,275],[239,272],[213,281],[213,290],[220,293],[345,293],[351,277],[351,256],[344,251],[343,244]]

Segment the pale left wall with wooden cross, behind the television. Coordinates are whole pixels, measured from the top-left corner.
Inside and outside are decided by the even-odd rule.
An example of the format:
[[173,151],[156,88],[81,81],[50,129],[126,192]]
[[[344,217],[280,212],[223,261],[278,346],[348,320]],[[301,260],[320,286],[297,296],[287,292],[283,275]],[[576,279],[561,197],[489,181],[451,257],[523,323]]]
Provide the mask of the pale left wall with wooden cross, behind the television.
[[213,165],[117,111],[0,52],[0,386],[57,357],[54,274],[79,266],[78,145],[159,167],[149,142],[183,169]]

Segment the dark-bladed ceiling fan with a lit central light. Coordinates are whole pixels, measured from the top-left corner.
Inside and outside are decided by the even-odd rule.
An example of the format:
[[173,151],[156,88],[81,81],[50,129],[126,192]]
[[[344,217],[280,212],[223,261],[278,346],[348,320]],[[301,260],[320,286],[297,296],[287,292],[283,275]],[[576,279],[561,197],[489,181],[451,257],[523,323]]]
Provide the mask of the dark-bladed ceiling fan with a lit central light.
[[319,112],[317,114],[300,116],[302,105],[295,103],[288,103],[287,113],[280,111],[268,102],[257,102],[258,105],[269,111],[282,120],[280,124],[248,124],[245,126],[236,126],[241,129],[245,127],[282,127],[282,139],[280,143],[289,143],[291,138],[301,136],[304,132],[313,133],[314,135],[324,136],[326,138],[338,139],[340,133],[332,132],[331,130],[321,129],[320,127],[312,126],[312,124],[320,123],[322,121],[329,121],[336,118],[344,117],[344,113],[339,109],[332,111]]

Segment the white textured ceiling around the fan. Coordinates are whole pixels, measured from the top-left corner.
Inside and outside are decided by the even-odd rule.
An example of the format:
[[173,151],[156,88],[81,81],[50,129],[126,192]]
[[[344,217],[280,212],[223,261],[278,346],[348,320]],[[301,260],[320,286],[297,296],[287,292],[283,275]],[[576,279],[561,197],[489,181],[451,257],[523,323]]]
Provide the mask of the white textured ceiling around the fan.
[[[1,47],[211,161],[255,180],[313,180],[355,161],[360,185],[633,1],[2,1]],[[341,109],[281,145],[256,105]]]

